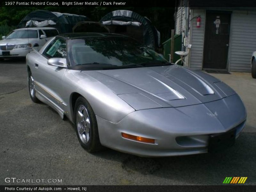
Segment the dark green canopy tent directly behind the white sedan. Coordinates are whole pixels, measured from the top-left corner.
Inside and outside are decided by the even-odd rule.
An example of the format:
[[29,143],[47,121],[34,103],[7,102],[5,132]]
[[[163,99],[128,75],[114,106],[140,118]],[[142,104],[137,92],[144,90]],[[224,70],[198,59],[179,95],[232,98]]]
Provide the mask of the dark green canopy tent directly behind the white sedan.
[[89,20],[88,17],[83,15],[37,10],[25,16],[20,21],[17,28],[54,27],[57,28],[60,33],[71,33],[76,23]]

